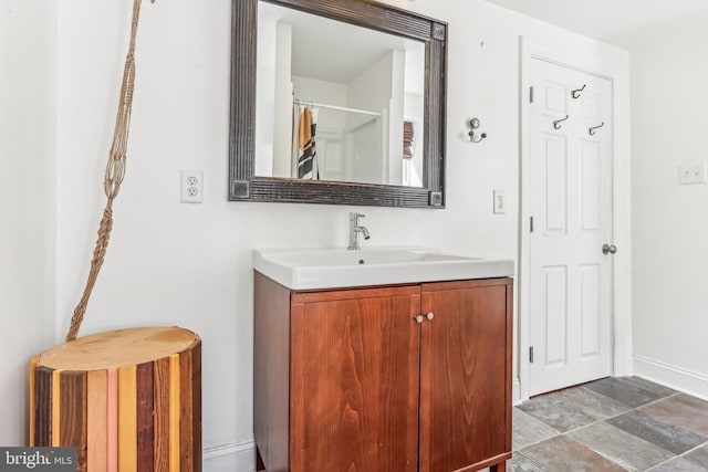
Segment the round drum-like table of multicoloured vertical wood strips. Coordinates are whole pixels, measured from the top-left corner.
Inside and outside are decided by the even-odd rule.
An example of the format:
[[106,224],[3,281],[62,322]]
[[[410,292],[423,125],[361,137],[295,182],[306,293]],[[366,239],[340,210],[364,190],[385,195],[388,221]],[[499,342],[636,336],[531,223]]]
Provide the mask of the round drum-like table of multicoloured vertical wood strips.
[[179,327],[98,333],[32,359],[30,445],[77,471],[201,470],[201,340]]

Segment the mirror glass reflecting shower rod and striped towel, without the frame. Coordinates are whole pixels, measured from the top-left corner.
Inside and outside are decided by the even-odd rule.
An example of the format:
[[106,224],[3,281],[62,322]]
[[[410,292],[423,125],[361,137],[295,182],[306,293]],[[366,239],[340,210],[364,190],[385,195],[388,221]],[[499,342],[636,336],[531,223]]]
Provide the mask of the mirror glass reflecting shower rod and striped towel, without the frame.
[[423,187],[425,43],[258,6],[254,172]]

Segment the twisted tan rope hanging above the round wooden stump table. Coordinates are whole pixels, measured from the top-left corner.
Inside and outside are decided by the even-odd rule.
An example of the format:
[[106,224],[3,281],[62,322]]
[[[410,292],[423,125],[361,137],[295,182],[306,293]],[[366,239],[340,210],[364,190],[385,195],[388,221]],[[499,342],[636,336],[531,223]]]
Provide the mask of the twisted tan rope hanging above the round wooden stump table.
[[98,239],[96,240],[96,247],[93,251],[93,259],[91,261],[91,271],[88,273],[88,280],[86,281],[86,287],[84,289],[81,302],[79,302],[79,305],[76,305],[76,308],[74,310],[74,315],[71,318],[71,326],[66,334],[66,340],[76,338],[79,329],[81,328],[81,323],[84,319],[88,298],[91,297],[91,292],[93,291],[96,279],[98,277],[98,272],[101,271],[101,266],[103,265],[103,260],[106,254],[106,248],[108,247],[108,238],[111,237],[111,230],[113,228],[113,200],[118,196],[121,183],[125,177],[126,147],[131,125],[131,109],[133,106],[133,87],[135,84],[135,38],[137,35],[140,2],[142,0],[134,0],[133,3],[131,45],[127,57],[125,59],[118,113],[113,133],[113,145],[111,146],[106,175],[103,182],[104,191],[107,197],[106,207],[103,210],[103,218],[101,219],[101,225],[98,227]]

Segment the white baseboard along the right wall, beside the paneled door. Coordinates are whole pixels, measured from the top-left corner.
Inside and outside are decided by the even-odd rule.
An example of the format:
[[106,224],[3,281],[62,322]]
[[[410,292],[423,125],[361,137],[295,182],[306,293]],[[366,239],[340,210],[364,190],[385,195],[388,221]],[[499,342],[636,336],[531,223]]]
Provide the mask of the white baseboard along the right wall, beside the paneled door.
[[634,374],[678,391],[708,400],[708,376],[644,356],[634,356]]

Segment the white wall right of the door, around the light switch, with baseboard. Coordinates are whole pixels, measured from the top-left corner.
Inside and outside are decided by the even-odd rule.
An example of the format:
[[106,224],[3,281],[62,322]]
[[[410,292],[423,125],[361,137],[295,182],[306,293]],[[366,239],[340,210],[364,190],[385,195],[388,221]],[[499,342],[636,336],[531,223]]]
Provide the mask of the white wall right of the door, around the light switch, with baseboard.
[[635,370],[708,398],[708,13],[631,38]]

